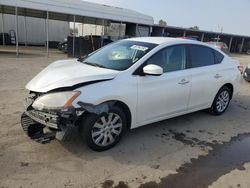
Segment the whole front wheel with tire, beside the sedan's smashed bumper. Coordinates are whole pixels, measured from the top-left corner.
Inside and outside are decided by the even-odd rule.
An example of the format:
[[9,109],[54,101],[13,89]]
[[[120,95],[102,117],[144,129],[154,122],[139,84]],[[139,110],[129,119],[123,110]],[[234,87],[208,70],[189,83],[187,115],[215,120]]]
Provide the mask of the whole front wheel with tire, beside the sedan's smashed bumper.
[[119,107],[113,106],[108,114],[90,113],[84,116],[80,125],[80,134],[89,148],[100,152],[114,147],[122,138],[125,129],[124,112]]

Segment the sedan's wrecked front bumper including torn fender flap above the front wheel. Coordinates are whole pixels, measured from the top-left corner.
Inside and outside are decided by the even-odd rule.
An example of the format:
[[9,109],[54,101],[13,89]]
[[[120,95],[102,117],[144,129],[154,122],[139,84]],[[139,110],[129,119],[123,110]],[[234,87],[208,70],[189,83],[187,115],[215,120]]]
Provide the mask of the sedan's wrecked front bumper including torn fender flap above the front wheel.
[[21,124],[24,132],[33,140],[45,144],[53,139],[64,141],[73,128],[79,125],[83,113],[100,115],[108,113],[114,105],[110,101],[99,105],[78,102],[79,108],[67,108],[61,110],[37,110],[32,107],[39,94],[31,93],[25,100],[25,112],[21,116]]

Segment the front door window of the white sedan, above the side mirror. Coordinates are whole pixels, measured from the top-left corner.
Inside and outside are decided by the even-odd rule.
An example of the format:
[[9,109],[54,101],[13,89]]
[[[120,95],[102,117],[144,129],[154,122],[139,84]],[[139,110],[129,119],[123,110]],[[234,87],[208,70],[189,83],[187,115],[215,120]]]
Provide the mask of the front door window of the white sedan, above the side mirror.
[[153,55],[147,64],[159,65],[163,72],[183,70],[186,66],[186,47],[178,45],[163,49]]

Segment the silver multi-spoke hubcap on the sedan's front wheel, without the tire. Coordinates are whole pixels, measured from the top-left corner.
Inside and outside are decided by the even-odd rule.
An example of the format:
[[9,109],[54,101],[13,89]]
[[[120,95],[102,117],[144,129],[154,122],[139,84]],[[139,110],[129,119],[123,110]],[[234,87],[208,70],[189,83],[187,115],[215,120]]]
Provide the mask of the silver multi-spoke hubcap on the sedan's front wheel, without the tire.
[[118,114],[101,116],[92,128],[92,139],[98,146],[113,144],[122,132],[122,120]]

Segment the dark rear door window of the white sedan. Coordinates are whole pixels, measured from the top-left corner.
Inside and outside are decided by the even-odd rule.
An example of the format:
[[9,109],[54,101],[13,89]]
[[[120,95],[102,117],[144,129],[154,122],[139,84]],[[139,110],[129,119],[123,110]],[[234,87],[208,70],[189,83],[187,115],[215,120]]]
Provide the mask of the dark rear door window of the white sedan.
[[214,53],[212,49],[204,46],[190,45],[192,68],[214,65]]

